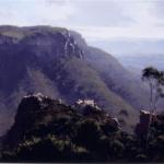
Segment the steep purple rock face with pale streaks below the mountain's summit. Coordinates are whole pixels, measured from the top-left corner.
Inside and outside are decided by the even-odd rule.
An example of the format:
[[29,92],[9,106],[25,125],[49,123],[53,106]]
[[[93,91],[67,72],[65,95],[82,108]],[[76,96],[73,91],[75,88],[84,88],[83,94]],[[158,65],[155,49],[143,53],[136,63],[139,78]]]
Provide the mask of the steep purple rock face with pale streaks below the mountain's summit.
[[39,57],[48,57],[55,59],[61,56],[77,56],[82,57],[82,51],[74,42],[70,33],[65,30],[63,32],[56,33],[39,33],[36,32],[32,36],[27,36],[20,42],[21,46],[27,46],[34,49]]

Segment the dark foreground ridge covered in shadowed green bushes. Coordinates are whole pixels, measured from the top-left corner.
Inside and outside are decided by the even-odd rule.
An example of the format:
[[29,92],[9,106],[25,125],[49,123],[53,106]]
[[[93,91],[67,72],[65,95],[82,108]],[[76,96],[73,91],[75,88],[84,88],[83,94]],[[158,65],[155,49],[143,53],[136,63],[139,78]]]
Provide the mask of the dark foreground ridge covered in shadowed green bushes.
[[103,110],[82,110],[43,95],[24,97],[2,140],[1,162],[164,162],[164,115],[147,140],[122,131]]

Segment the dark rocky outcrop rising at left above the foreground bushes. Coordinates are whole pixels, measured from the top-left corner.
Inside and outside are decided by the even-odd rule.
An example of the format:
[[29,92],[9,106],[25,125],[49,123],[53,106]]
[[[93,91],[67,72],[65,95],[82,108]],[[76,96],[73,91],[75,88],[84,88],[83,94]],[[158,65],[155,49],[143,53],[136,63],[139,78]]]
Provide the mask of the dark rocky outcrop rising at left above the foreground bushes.
[[[14,147],[24,139],[31,138],[31,136],[38,136],[37,128],[40,128],[39,130],[47,134],[51,131],[48,129],[55,126],[52,124],[59,116],[70,117],[74,124],[78,120],[82,121],[83,119],[92,118],[99,122],[108,121],[115,129],[119,128],[115,118],[113,119],[105,112],[97,109],[96,106],[86,105],[85,107],[83,106],[83,112],[80,112],[77,106],[66,105],[60,99],[54,99],[40,93],[28,94],[22,98],[19,105],[14,124],[4,137],[3,145]],[[58,122],[57,129],[61,125]],[[42,129],[44,126],[46,126],[46,129]],[[68,128],[71,129],[71,127]],[[63,131],[60,132],[62,133]],[[54,133],[56,134],[56,129],[54,129]]]

